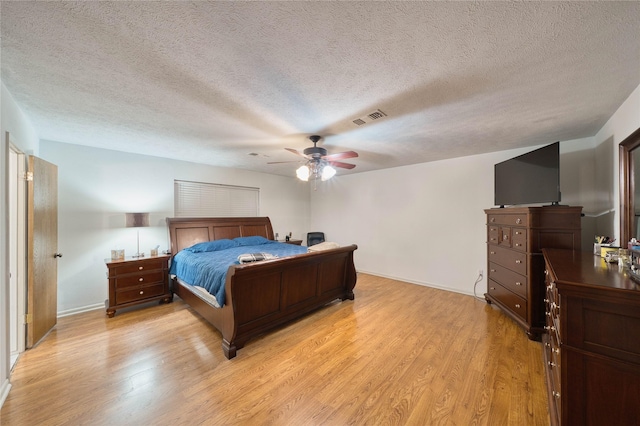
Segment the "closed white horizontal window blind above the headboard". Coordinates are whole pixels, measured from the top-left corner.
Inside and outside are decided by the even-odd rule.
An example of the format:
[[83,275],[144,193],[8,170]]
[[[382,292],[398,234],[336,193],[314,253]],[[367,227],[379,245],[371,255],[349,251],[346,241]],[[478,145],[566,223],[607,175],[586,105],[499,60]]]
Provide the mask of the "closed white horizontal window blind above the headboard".
[[260,189],[174,180],[175,217],[258,216]]

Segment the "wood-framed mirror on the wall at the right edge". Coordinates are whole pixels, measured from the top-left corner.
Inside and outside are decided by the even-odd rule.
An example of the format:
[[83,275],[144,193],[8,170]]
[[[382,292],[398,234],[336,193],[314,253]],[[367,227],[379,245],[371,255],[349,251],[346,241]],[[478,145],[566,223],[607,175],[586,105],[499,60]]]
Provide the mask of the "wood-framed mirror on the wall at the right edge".
[[[640,190],[640,173],[635,175],[636,166],[640,170],[640,128],[620,142],[620,245],[625,247],[631,238],[638,238],[638,216],[640,203],[636,206],[636,189]],[[636,182],[638,180],[639,182]]]

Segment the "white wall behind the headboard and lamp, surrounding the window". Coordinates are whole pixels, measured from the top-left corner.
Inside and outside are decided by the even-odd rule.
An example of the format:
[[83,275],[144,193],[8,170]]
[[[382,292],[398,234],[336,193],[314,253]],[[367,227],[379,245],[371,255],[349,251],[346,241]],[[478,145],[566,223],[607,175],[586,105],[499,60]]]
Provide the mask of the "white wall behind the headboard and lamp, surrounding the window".
[[169,246],[165,218],[173,216],[174,179],[260,188],[260,215],[275,232],[302,237],[309,223],[308,184],[294,177],[212,167],[59,142],[41,141],[40,156],[58,166],[58,313],[103,307],[104,260],[113,248],[136,252],[136,230],[125,212],[149,212],[140,250]]

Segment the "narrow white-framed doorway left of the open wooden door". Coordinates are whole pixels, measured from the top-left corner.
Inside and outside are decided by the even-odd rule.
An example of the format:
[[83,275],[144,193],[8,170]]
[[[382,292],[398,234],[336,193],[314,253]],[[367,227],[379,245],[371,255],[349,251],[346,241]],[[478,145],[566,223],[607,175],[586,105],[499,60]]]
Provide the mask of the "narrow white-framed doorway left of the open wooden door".
[[10,369],[25,351],[25,156],[9,141],[9,346]]

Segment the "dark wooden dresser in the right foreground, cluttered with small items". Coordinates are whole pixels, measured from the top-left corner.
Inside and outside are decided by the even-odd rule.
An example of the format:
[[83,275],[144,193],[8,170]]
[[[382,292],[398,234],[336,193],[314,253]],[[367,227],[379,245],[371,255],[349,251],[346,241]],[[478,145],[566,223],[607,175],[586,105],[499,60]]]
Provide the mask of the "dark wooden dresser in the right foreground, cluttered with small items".
[[551,424],[640,424],[640,285],[592,253],[543,253]]

